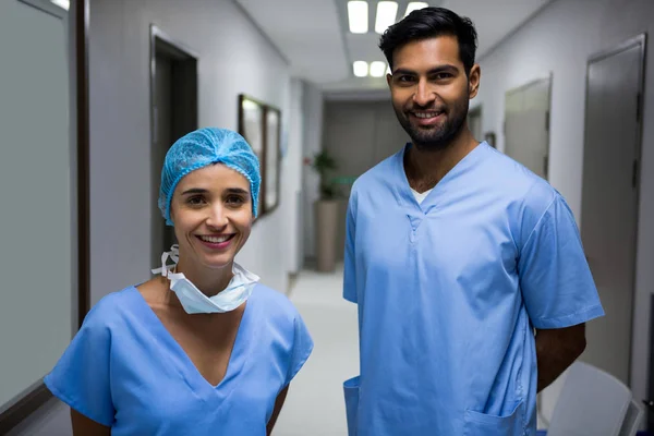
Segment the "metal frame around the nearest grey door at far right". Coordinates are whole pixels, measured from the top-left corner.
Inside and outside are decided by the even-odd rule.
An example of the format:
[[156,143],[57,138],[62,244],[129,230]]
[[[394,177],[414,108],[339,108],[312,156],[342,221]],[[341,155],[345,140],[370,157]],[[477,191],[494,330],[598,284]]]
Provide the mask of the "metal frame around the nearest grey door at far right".
[[[643,92],[645,88],[645,62],[646,62],[646,45],[647,45],[647,34],[646,33],[641,33],[632,38],[629,38],[611,48],[602,50],[596,52],[595,55],[592,55],[591,57],[589,57],[588,61],[586,61],[586,73],[585,73],[585,89],[584,89],[584,123],[583,123],[583,137],[584,137],[584,150],[583,150],[583,156],[582,157],[582,171],[583,171],[583,160],[585,159],[585,136],[588,133],[588,123],[586,123],[586,114],[589,113],[589,88],[590,88],[590,69],[591,65],[593,63],[603,61],[606,58],[610,58],[611,56],[618,55],[622,51],[629,50],[633,47],[640,47],[640,61],[641,61],[641,69],[639,71],[640,77],[639,77],[639,83],[638,83],[638,101],[637,101],[637,113],[638,113],[638,125],[637,125],[637,132],[635,132],[635,149],[634,152],[634,162],[633,162],[633,180],[634,180],[634,189],[635,189],[635,231],[633,234],[633,242],[634,242],[634,262],[633,262],[633,268],[630,271],[631,275],[631,279],[632,279],[632,288],[630,289],[630,292],[632,294],[631,298],[631,326],[629,327],[629,355],[628,355],[628,367],[629,367],[629,372],[627,373],[627,384],[629,386],[631,386],[632,383],[632,374],[631,374],[631,364],[632,364],[632,358],[633,358],[633,331],[634,331],[634,325],[633,325],[633,314],[635,313],[635,279],[637,279],[637,264],[638,264],[638,234],[639,234],[639,217],[640,217],[640,182],[641,182],[641,178],[640,178],[640,165],[641,165],[641,156],[642,156],[642,146],[643,146],[643,106],[644,106],[644,98],[643,98]],[[583,209],[583,178],[582,178],[582,209]],[[581,217],[582,219],[582,226],[583,226],[583,216]]]

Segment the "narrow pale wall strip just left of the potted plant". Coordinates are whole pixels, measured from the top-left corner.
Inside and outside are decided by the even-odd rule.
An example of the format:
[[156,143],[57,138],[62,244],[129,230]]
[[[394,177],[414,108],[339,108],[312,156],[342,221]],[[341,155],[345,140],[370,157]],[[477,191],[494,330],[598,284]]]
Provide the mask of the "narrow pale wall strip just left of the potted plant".
[[[311,83],[304,82],[302,96],[304,111],[305,158],[313,159],[323,148],[323,93]],[[315,258],[314,202],[319,197],[320,179],[308,166],[303,167],[302,185],[304,191],[304,257]]]

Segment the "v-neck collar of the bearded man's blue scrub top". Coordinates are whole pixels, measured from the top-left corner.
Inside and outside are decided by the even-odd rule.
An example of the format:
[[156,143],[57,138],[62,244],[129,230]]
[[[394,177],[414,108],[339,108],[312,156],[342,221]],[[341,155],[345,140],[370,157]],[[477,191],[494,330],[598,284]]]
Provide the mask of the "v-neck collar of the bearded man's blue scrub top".
[[459,160],[457,165],[455,165],[455,167],[449,170],[438,183],[436,183],[422,203],[417,203],[417,199],[411,191],[407,172],[404,171],[404,155],[412,146],[411,143],[407,143],[395,156],[396,175],[399,181],[399,183],[395,184],[395,196],[401,207],[413,209],[421,216],[428,214],[432,208],[438,206],[439,201],[444,197],[444,194],[447,193],[450,182],[474,166],[488,147],[486,142],[482,142],[470,150],[468,155]]

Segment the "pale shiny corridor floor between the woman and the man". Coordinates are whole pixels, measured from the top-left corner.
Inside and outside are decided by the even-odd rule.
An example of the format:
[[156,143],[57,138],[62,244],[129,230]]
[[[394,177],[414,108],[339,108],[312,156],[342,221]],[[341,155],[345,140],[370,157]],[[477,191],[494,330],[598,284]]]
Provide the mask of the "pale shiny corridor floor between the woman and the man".
[[347,436],[342,384],[359,374],[356,306],[342,299],[342,268],[303,271],[291,290],[314,351],[291,383],[274,436]]

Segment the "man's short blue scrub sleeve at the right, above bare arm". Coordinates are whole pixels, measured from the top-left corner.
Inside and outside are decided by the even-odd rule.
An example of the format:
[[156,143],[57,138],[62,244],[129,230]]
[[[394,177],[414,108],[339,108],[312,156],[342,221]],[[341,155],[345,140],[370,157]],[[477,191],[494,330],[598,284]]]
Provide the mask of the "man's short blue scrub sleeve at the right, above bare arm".
[[535,328],[564,328],[604,315],[572,211],[557,193],[522,246],[518,264]]

